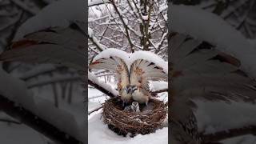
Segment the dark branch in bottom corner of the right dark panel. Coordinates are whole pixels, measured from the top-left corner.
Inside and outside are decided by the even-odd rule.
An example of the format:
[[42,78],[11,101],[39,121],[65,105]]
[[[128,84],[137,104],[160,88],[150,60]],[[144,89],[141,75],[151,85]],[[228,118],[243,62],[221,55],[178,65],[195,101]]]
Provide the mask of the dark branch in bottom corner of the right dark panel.
[[201,134],[203,142],[218,142],[226,138],[234,138],[241,135],[256,135],[256,126],[244,126],[242,128],[218,131],[214,134]]

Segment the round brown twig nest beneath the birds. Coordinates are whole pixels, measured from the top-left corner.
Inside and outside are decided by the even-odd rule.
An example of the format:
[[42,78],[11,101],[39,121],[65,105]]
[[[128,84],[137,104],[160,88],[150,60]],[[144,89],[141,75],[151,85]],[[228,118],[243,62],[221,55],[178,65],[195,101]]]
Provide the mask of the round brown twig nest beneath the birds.
[[[151,107],[151,109],[146,109]],[[103,121],[119,135],[150,134],[166,119],[166,106],[162,101],[150,99],[148,106],[141,106],[141,112],[125,111],[122,100],[110,98],[103,105]]]

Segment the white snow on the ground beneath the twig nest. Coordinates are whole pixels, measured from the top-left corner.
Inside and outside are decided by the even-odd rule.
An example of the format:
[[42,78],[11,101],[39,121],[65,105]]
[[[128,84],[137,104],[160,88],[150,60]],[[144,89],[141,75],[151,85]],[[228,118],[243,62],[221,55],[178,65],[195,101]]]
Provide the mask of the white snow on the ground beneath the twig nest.
[[[98,112],[100,113],[100,112]],[[102,122],[101,114],[94,114],[88,120],[88,143],[106,143],[106,144],[167,144],[168,143],[168,128],[162,128],[152,134],[138,134],[134,138],[129,136],[123,137],[109,130]]]

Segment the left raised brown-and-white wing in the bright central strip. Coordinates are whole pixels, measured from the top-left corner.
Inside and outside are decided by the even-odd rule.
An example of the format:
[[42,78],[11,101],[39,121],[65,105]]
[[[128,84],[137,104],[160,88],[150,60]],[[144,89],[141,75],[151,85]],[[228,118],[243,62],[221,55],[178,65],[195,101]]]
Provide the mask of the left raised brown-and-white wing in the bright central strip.
[[126,65],[126,62],[124,62],[122,58],[118,58],[118,57],[100,58],[92,62],[89,68],[114,71],[118,79],[118,90],[130,84],[128,67]]

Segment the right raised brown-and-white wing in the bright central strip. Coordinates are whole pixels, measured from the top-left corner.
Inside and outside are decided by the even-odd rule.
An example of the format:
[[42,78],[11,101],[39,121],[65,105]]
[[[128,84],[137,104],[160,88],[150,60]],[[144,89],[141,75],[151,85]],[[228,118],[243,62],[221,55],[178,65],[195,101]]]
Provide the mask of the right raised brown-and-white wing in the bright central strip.
[[130,85],[142,86],[149,90],[149,80],[166,80],[166,74],[161,67],[158,67],[154,62],[149,62],[143,59],[138,59],[130,66]]

